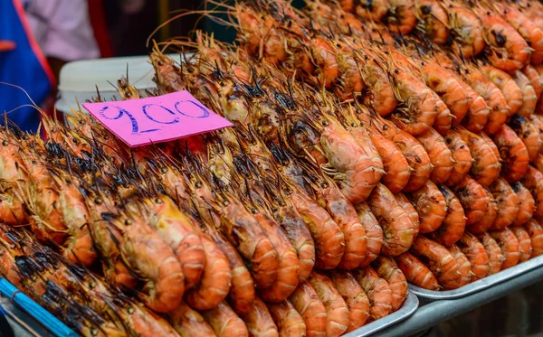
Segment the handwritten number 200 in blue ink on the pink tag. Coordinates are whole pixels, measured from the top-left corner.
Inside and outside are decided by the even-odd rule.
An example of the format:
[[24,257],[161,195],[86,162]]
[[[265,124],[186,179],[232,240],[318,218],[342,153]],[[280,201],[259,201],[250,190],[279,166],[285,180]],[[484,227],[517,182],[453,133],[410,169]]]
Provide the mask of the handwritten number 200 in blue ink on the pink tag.
[[[196,108],[198,108],[201,111],[202,114],[199,115],[199,116],[193,116],[193,115],[187,114],[186,112],[181,111],[179,109],[179,106],[181,104],[183,104],[183,103],[188,103],[188,104],[194,105]],[[173,118],[171,118],[170,120],[159,120],[159,119],[157,119],[157,117],[153,117],[151,115],[151,108],[152,107],[162,108],[163,110],[165,110],[167,112],[167,115],[170,115]],[[176,108],[176,112],[179,115],[182,115],[184,117],[207,118],[210,115],[209,110],[207,108],[205,108],[203,105],[201,105],[198,102],[195,102],[193,100],[181,100],[181,101],[178,101],[174,105],[174,108]],[[114,117],[107,116],[106,112],[108,110],[110,110],[110,109],[116,109],[117,110],[117,115],[114,116]],[[176,123],[179,123],[179,117],[176,117],[176,113],[174,111],[172,111],[171,109],[166,108],[164,106],[154,104],[154,103],[150,103],[150,104],[144,105],[141,109],[142,109],[143,115],[145,117],[147,117],[149,120],[151,120],[152,122],[154,122],[154,123],[157,123],[157,124],[176,124]],[[129,117],[129,120],[130,120],[130,123],[131,123],[131,126],[132,126],[132,134],[133,135],[144,134],[144,133],[149,133],[149,132],[155,132],[155,131],[159,130],[159,128],[152,128],[152,129],[148,129],[148,130],[139,130],[138,120],[136,119],[136,117],[134,117],[132,114],[130,114],[129,111],[127,111],[125,108],[120,108],[119,106],[107,106],[107,107],[101,108],[100,109],[100,116],[104,117],[106,119],[109,119],[109,120],[117,120],[117,119],[120,119],[123,116]]]

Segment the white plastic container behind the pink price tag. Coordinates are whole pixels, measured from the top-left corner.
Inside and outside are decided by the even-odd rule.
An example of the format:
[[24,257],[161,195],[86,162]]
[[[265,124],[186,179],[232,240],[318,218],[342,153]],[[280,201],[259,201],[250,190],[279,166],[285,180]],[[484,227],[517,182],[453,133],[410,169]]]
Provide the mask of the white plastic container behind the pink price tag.
[[[128,68],[127,68],[128,67]],[[77,102],[84,103],[87,99],[100,96],[110,100],[120,99],[117,80],[127,76],[129,82],[138,90],[155,89],[153,82],[154,70],[148,56],[131,56],[89,61],[73,61],[62,67],[59,80],[59,98],[55,107],[65,114],[71,113],[71,108],[77,108]]]

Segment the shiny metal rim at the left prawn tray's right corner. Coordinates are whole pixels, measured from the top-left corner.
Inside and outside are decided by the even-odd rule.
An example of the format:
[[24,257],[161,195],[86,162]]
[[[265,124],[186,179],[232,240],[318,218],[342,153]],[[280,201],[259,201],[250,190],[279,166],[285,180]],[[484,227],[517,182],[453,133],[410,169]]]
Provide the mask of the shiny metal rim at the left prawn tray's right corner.
[[365,337],[385,330],[386,328],[411,317],[416,309],[418,309],[418,304],[418,298],[410,291],[407,295],[407,299],[405,299],[404,305],[402,305],[398,311],[378,319],[375,322],[368,323],[353,332],[348,332],[347,334],[344,334],[343,337]]

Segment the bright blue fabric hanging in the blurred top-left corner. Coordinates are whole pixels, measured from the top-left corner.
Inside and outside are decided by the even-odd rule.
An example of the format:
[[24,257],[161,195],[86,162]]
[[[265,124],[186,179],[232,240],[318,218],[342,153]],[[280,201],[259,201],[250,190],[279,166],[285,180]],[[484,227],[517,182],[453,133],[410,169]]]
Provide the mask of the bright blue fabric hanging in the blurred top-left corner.
[[[51,82],[30,46],[14,1],[0,0],[0,40],[16,43],[13,51],[0,51],[0,81],[22,87],[40,106],[51,91]],[[21,89],[0,84],[0,114],[32,104]],[[35,132],[40,113],[35,108],[19,108],[8,115],[24,131]],[[0,118],[4,122],[4,117]]]

